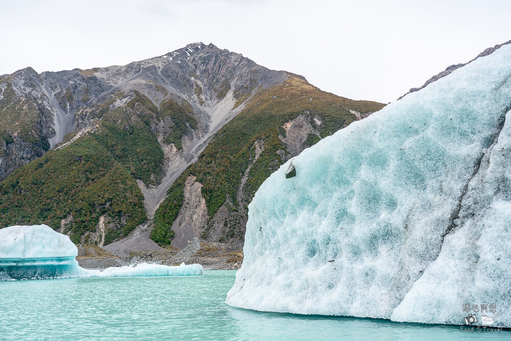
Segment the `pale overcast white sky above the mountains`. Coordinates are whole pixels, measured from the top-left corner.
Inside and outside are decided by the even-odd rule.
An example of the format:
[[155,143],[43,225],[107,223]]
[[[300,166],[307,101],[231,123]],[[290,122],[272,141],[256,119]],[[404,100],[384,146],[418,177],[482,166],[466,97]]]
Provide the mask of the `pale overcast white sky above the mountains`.
[[0,75],[122,65],[202,41],[390,102],[511,39],[510,1],[0,0]]

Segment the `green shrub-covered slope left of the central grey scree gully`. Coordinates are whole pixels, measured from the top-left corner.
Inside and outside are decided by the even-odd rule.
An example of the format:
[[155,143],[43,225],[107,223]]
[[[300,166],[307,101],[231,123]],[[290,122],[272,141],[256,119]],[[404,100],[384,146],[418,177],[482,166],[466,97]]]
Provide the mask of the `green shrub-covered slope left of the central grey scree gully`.
[[[126,105],[112,107],[119,99],[126,99]],[[118,93],[92,107],[94,129],[0,183],[0,228],[45,223],[75,243],[106,245],[145,222],[144,197],[136,180],[151,185],[164,173],[164,154],[153,131],[167,116],[188,115],[171,100],[161,107],[137,92]],[[180,145],[181,132],[170,129],[168,134],[170,143]],[[100,217],[103,228],[98,228]]]

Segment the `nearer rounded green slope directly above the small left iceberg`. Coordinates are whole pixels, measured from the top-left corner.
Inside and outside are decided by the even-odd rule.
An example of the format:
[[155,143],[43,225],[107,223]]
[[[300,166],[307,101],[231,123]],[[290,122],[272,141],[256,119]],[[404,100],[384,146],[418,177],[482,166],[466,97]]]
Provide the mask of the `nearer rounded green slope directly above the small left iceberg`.
[[56,229],[69,214],[71,240],[95,232],[99,217],[126,218],[107,230],[105,244],[125,236],[146,219],[143,196],[129,171],[89,136],[49,151],[0,183],[0,228],[45,223]]

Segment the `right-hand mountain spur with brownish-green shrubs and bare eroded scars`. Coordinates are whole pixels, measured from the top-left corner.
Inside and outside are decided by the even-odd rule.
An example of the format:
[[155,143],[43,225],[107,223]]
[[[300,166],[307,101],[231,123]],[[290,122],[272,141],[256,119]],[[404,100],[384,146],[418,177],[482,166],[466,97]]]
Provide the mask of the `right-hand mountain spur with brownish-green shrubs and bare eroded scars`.
[[[156,211],[151,238],[170,243],[173,237],[190,237],[193,230],[204,239],[242,240],[246,206],[273,171],[301,150],[383,106],[322,92],[297,77],[261,90],[177,178]],[[197,202],[194,183],[200,187],[205,208],[192,207]],[[190,214],[195,218],[185,217]]]

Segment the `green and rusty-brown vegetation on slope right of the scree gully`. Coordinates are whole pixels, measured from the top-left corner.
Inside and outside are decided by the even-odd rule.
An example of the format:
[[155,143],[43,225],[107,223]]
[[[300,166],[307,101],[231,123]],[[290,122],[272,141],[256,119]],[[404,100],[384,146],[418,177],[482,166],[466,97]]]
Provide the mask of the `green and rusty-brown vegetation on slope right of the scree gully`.
[[[251,167],[245,184],[245,193],[250,198],[283,163],[276,151],[286,149],[278,138],[279,129],[285,122],[299,115],[311,119],[319,117],[322,124],[316,128],[320,129],[323,138],[356,120],[349,109],[374,112],[383,106],[377,102],[354,101],[325,93],[295,77],[275,87],[260,90],[233,120],[216,133],[198,161],[176,179],[167,192],[168,197],[156,211],[151,238],[158,243],[171,241],[172,223],[181,208],[184,182],[189,175],[195,175],[203,185],[202,195],[206,200],[208,214],[212,217],[227,196],[236,203],[236,192],[251,163],[255,141],[264,141],[264,149]],[[317,141],[319,139],[316,135],[309,136],[306,144],[312,145]]]

